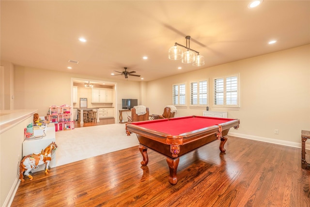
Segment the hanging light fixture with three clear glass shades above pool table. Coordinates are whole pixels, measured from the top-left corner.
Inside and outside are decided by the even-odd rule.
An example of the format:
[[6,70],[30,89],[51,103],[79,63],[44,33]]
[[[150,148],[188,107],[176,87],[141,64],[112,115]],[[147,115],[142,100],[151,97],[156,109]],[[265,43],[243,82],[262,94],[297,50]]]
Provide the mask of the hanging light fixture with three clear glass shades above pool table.
[[[193,64],[193,66],[202,66],[204,65],[204,57],[199,54],[198,51],[193,50],[189,46],[190,36],[186,36],[186,46],[181,45],[179,43],[174,43],[174,46],[169,49],[169,59],[170,60],[180,60],[182,59],[182,63],[185,64]],[[188,42],[188,47],[187,47]],[[183,48],[186,48],[186,52],[183,52]],[[195,54],[197,53],[197,55]]]

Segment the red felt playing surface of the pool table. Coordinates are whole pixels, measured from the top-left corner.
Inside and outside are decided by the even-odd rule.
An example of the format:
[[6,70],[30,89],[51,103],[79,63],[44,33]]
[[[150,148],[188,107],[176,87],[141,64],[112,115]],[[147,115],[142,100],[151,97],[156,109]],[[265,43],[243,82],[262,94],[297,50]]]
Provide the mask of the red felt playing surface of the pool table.
[[164,132],[170,135],[180,135],[194,130],[222,124],[233,119],[213,118],[205,116],[186,116],[169,119],[159,119],[154,121],[131,123],[140,127],[145,127],[155,131]]

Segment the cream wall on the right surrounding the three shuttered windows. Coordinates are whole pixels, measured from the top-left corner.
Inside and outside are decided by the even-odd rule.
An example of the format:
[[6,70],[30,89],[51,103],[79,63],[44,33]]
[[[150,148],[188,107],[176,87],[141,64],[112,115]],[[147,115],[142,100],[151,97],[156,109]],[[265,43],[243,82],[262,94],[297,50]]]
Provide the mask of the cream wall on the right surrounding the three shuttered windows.
[[[210,110],[218,111],[212,105],[213,78],[235,73],[240,74],[241,107],[225,111],[240,119],[240,127],[230,132],[301,143],[301,130],[310,130],[310,45],[149,81],[147,106],[150,113],[161,114],[172,104],[172,84],[186,82],[189,94],[189,81],[208,78]],[[176,116],[202,115],[203,110],[186,107]]]

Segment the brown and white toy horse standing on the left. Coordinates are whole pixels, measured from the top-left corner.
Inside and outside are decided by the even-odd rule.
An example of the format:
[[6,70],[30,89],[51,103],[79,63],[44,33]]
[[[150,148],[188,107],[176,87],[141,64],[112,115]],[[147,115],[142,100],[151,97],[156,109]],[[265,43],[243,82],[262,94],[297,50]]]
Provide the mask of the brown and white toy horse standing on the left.
[[49,162],[52,159],[52,151],[57,149],[57,144],[55,142],[50,143],[47,148],[42,149],[41,153],[30,154],[20,161],[19,165],[19,179],[24,182],[24,175],[27,175],[30,180],[32,176],[29,174],[32,169],[37,169],[39,165],[45,164],[45,174],[48,175],[49,172]]

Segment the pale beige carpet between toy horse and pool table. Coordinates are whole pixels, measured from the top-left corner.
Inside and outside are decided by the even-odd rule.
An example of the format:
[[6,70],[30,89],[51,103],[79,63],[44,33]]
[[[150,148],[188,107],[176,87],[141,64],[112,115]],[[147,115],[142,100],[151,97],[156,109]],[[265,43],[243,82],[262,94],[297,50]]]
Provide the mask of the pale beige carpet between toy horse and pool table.
[[56,132],[56,166],[137,146],[136,134],[127,136],[124,124],[80,127]]

